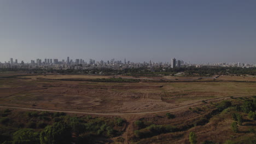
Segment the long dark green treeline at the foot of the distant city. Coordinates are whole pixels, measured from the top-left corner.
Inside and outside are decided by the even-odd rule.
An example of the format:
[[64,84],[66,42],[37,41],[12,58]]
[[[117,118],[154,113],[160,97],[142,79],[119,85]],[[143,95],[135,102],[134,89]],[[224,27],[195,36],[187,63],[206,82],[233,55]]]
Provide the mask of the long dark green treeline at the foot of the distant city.
[[124,70],[95,68],[86,70],[54,70],[54,69],[0,69],[0,71],[25,71],[28,74],[101,74],[101,75],[131,75],[131,76],[165,76],[184,73],[185,75],[256,75],[256,68],[240,68],[240,67],[181,67],[181,68],[129,68]]

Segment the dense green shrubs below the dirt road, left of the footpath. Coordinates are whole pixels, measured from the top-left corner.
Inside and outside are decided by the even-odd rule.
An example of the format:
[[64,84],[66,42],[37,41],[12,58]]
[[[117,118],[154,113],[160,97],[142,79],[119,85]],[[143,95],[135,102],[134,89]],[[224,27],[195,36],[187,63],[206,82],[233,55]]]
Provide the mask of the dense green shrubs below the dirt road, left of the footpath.
[[[0,117],[0,143],[97,143],[123,133],[120,117],[73,117],[60,112],[13,112]],[[98,139],[101,137],[101,140]]]

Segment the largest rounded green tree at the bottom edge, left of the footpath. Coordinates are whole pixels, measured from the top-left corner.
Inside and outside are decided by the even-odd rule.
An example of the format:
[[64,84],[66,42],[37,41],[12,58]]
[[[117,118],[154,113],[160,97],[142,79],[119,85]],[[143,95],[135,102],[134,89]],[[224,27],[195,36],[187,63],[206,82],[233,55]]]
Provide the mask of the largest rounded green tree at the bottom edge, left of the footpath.
[[59,144],[71,143],[71,127],[64,122],[54,123],[48,126],[40,133],[41,144]]

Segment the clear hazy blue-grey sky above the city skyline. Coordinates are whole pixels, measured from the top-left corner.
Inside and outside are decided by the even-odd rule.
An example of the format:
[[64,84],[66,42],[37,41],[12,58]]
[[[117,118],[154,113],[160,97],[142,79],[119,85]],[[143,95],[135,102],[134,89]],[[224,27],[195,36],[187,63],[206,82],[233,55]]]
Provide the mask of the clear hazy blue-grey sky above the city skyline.
[[256,63],[256,1],[1,0],[0,62]]

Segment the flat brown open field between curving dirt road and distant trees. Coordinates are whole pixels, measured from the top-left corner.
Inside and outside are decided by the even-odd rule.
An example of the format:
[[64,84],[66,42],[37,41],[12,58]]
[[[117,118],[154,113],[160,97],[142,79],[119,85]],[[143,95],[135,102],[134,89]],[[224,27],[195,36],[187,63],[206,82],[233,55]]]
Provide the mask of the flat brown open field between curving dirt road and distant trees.
[[[46,77],[76,76],[101,77]],[[38,79],[0,79],[0,82],[0,105],[88,112],[158,111],[213,98],[256,95],[256,83],[250,82],[106,83]]]

